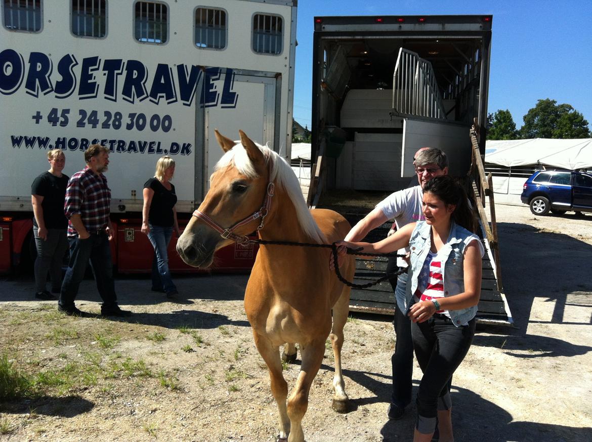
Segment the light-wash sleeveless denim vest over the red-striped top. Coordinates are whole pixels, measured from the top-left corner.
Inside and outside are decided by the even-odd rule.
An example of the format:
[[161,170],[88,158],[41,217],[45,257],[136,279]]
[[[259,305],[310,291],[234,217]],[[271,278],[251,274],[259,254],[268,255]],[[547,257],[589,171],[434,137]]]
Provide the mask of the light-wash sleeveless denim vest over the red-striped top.
[[[440,256],[446,256],[446,262],[442,267],[442,279],[444,282],[444,296],[458,295],[465,291],[465,280],[464,280],[464,249],[465,240],[470,236],[477,237],[472,234],[464,227],[457,225],[454,221],[451,221],[450,234],[448,241],[438,252]],[[416,227],[411,233],[409,240],[409,248],[411,250],[411,273],[410,280],[407,282],[406,292],[406,312],[408,311],[413,293],[417,290],[417,276],[422,270],[423,263],[426,261],[427,254],[430,251],[432,245],[431,240],[432,226],[427,224],[425,221],[417,223]],[[459,325],[466,324],[466,322],[472,320],[477,314],[477,306],[464,308],[460,310],[449,310],[452,318],[452,323],[459,327]]]

